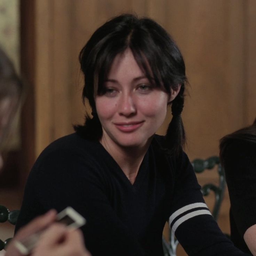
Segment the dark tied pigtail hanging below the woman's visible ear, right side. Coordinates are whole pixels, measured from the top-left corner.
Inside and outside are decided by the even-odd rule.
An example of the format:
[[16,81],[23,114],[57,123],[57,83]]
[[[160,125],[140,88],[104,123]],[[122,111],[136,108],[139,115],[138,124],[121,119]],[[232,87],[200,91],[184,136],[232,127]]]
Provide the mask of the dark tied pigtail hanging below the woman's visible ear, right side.
[[166,147],[169,154],[178,155],[185,144],[185,130],[181,118],[181,113],[184,106],[184,83],[181,85],[179,94],[171,104],[171,113],[173,118],[169,123],[166,132]]

